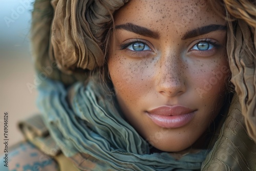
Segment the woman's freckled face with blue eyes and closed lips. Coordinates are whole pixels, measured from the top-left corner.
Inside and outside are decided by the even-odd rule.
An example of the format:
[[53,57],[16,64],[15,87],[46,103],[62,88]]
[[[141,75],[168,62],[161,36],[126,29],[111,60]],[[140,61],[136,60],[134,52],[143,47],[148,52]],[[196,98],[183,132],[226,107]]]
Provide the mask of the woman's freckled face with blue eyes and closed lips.
[[225,20],[190,0],[132,0],[114,20],[108,67],[126,119],[162,151],[191,146],[223,105]]

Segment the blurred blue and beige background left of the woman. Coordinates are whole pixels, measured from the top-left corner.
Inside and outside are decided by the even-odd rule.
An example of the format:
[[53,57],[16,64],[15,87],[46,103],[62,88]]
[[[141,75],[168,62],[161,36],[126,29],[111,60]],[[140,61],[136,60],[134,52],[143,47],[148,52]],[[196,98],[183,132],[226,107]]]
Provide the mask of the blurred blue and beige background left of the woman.
[[1,0],[0,6],[0,150],[3,153],[4,112],[8,112],[9,146],[21,141],[17,121],[38,113],[29,30],[34,0]]

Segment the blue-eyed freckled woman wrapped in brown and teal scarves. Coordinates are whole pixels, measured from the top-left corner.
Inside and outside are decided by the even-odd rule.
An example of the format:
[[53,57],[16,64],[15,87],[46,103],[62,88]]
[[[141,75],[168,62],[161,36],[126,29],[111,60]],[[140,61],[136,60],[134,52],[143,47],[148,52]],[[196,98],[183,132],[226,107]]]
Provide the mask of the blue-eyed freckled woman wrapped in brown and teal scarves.
[[55,160],[38,162],[41,152],[25,143],[37,156],[27,168],[256,169],[255,9],[249,1],[35,2],[47,128],[40,118],[20,128]]

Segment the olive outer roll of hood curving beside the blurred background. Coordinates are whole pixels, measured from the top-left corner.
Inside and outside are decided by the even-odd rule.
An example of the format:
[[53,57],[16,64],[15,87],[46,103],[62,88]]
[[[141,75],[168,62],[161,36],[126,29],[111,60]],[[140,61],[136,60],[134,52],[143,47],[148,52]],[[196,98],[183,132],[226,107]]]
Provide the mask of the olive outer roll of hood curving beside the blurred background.
[[87,74],[86,72],[74,72],[72,75],[61,72],[57,68],[57,62],[50,57],[52,51],[50,45],[51,27],[54,10],[50,0],[36,0],[32,12],[31,24],[31,53],[34,58],[35,69],[38,74],[36,83],[44,80],[45,77],[60,80],[65,84],[72,84],[76,81],[83,81]]

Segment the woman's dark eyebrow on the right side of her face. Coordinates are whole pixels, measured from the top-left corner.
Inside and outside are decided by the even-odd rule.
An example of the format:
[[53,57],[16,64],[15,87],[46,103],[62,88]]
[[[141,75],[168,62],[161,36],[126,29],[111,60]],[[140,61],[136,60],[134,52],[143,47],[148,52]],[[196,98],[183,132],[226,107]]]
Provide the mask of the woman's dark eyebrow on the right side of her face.
[[207,34],[217,30],[227,30],[227,27],[223,25],[208,25],[208,26],[199,27],[197,29],[186,32],[181,39],[185,40],[188,38],[200,36],[200,35]]

